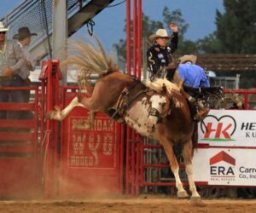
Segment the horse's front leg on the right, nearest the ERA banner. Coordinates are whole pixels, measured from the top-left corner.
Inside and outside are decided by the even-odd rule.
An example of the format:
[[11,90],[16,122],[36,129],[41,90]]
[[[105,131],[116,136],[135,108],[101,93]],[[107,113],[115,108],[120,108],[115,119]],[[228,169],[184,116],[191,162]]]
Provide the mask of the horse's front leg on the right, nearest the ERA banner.
[[186,166],[186,173],[189,179],[189,190],[192,193],[191,199],[195,201],[201,200],[201,196],[196,191],[195,182],[193,180],[193,165],[192,165],[192,141],[190,140],[183,146],[183,159]]

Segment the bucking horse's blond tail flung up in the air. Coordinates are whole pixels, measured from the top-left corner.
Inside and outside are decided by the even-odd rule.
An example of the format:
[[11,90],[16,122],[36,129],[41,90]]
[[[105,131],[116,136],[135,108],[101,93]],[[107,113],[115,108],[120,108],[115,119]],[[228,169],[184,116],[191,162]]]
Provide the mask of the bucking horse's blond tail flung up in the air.
[[70,66],[77,71],[77,81],[83,89],[90,87],[90,78],[92,76],[106,75],[111,72],[119,71],[114,65],[112,57],[108,56],[100,40],[96,42],[70,41],[68,44],[67,60],[64,60],[62,66]]

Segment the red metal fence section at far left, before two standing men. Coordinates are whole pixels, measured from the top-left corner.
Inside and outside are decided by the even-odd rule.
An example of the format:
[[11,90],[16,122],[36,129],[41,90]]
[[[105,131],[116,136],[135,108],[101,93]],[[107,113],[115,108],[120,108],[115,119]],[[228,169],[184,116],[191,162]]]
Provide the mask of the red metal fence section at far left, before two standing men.
[[0,88],[4,91],[30,90],[33,100],[28,103],[0,103],[0,111],[29,115],[20,119],[0,119],[0,197],[32,197],[40,193],[42,176],[39,137],[39,89]]

